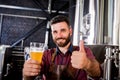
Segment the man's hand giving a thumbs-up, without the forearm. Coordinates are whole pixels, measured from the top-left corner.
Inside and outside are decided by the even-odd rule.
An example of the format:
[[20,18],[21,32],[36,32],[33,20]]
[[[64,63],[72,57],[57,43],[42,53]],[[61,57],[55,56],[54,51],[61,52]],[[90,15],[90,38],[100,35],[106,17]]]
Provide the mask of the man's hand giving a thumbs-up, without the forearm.
[[79,51],[72,52],[71,63],[74,68],[86,69],[90,60],[86,56],[83,40],[80,41],[79,48]]

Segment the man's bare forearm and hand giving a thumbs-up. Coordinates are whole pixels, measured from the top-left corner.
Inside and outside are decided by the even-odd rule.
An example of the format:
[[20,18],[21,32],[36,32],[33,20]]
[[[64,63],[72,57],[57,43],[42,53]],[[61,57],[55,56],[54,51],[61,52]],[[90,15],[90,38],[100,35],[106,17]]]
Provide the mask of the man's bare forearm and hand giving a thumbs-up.
[[85,70],[91,77],[100,77],[101,68],[90,50],[86,51],[84,42],[81,41],[79,51],[73,51],[71,63],[74,68]]

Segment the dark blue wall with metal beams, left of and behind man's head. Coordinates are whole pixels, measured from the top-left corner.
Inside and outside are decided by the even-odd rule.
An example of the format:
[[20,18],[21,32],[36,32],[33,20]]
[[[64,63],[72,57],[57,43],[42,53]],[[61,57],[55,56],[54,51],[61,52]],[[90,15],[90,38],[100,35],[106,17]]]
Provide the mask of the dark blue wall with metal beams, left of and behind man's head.
[[[68,15],[69,11],[69,1],[59,0],[53,2],[51,6],[49,0],[1,0],[0,44],[12,45],[26,36],[24,46],[29,46],[29,43],[33,41],[44,43],[46,31],[49,31],[47,22],[50,18],[57,14]],[[56,12],[57,9],[58,12]],[[36,31],[33,30],[34,28]],[[47,35],[49,35],[49,43],[53,43],[51,34]]]

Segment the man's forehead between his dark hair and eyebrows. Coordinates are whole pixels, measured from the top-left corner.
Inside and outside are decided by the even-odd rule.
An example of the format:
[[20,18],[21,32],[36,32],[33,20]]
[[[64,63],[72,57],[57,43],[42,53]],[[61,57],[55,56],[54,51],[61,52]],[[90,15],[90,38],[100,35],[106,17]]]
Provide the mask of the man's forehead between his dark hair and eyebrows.
[[59,30],[59,29],[68,29],[69,26],[66,22],[59,22],[51,25],[51,30]]

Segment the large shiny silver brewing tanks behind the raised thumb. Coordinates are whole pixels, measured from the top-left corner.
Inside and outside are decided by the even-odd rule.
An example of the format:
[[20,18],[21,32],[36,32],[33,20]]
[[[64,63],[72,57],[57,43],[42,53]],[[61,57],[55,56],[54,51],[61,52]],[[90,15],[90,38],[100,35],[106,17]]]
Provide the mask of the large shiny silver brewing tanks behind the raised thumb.
[[85,0],[76,0],[73,44],[82,36],[86,44],[119,44],[119,0],[89,0],[89,11],[84,13]]

